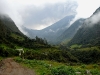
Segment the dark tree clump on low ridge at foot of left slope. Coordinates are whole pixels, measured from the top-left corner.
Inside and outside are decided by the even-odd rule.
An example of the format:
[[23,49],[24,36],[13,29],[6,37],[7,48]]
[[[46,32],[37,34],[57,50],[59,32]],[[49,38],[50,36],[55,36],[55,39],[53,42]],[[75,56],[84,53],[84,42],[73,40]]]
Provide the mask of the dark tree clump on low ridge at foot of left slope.
[[29,49],[51,47],[46,39],[42,39],[39,37],[36,37],[36,39],[25,38],[25,40],[22,42],[22,46]]

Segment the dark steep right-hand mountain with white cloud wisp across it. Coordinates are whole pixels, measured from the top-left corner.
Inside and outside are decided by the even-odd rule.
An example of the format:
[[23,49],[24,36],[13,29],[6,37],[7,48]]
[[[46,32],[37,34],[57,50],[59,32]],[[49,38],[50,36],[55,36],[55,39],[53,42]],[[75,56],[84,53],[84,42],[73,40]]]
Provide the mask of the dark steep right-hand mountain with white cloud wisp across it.
[[100,45],[100,7],[86,19],[68,45]]

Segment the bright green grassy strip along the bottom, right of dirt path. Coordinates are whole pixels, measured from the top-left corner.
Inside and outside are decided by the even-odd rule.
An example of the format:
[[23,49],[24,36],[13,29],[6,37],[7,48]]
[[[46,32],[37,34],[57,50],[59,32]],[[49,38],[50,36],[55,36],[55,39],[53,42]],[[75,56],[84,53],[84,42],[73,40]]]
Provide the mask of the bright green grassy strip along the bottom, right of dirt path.
[[77,75],[75,72],[81,72],[81,75],[87,75],[86,70],[89,70],[93,75],[100,74],[100,66],[97,64],[67,66],[67,63],[47,60],[23,60],[19,57],[16,57],[15,61],[23,66],[34,69],[36,75]]

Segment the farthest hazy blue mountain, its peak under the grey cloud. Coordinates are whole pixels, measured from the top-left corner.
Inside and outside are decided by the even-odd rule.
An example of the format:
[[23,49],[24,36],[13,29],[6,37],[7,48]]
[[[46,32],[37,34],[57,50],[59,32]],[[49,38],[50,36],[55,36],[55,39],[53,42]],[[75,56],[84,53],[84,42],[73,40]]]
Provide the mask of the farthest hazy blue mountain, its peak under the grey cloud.
[[74,19],[74,17],[74,15],[66,16],[58,22],[42,30],[32,30],[27,28],[24,28],[24,30],[31,38],[39,36],[41,38],[46,38],[48,42],[54,44],[56,41],[58,41],[57,37],[59,37],[69,27],[69,24]]

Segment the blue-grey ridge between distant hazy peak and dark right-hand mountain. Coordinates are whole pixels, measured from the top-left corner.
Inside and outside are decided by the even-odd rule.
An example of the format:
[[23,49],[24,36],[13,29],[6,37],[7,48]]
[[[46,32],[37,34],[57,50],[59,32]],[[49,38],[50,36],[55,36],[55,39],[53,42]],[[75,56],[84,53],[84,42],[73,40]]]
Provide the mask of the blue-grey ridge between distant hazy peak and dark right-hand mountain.
[[[77,30],[82,26],[85,19],[80,18],[76,20],[68,29],[66,29],[60,36],[59,41],[70,40],[76,34]],[[66,41],[65,41],[66,42]]]

